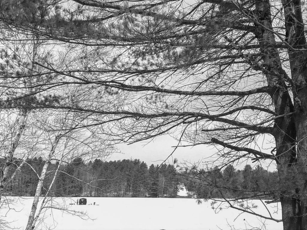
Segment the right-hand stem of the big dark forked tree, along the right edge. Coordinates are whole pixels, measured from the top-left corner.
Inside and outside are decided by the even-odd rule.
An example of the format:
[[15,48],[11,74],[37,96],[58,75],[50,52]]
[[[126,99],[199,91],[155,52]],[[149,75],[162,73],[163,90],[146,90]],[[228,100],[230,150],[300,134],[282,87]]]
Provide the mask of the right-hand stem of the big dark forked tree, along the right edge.
[[296,203],[293,203],[292,209],[297,221],[296,229],[307,230],[307,45],[301,4],[300,0],[282,0],[286,41],[292,46],[288,49],[291,76],[295,83],[292,91],[297,155],[291,179],[296,180],[294,184],[296,193],[293,198]]

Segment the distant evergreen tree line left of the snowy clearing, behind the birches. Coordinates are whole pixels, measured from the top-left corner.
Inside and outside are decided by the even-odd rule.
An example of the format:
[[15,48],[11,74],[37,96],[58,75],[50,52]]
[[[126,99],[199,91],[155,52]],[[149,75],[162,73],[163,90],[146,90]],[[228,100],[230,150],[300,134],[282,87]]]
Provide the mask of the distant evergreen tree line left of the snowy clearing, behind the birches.
[[[22,163],[14,159],[9,177]],[[4,194],[11,196],[34,196],[37,189],[40,172],[45,160],[39,156],[27,159],[18,169],[10,186],[5,188]],[[3,165],[2,161],[2,165]],[[46,189],[55,175],[59,162],[49,164],[48,174],[41,187],[41,196],[46,195]],[[85,162],[81,157],[69,164],[59,166],[58,175],[53,182],[48,196],[96,196],[96,197],[176,197],[179,181],[176,168],[171,164],[150,165],[139,159],[123,159],[116,161],[102,161],[94,159]]]

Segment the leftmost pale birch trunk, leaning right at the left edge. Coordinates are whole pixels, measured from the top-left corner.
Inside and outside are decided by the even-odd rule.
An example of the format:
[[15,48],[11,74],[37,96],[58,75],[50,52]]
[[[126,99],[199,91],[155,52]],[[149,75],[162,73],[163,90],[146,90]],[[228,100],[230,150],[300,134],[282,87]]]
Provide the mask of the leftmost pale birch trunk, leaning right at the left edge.
[[19,127],[18,130],[16,132],[16,135],[13,139],[12,145],[11,145],[11,149],[8,152],[8,154],[6,155],[6,161],[5,164],[0,172],[0,202],[1,202],[1,198],[2,198],[2,194],[3,194],[3,189],[4,189],[4,184],[6,182],[6,179],[8,178],[8,172],[10,169],[10,165],[12,164],[12,159],[14,156],[14,152],[17,148],[17,145],[19,143],[20,137],[22,132],[25,129],[25,124],[26,124],[26,118],[27,118],[27,110],[24,110],[23,112],[20,113],[20,118],[19,118]]

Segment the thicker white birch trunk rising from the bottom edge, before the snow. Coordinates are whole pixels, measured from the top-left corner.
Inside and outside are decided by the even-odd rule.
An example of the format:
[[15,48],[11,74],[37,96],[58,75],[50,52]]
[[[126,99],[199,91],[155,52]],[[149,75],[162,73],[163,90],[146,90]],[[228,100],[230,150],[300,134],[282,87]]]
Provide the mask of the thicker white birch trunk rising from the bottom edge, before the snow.
[[54,142],[52,144],[52,148],[51,148],[51,150],[49,152],[49,155],[48,155],[48,157],[46,159],[45,165],[44,165],[44,167],[43,167],[43,169],[41,171],[41,176],[40,176],[39,181],[37,183],[37,187],[36,187],[36,191],[35,191],[35,196],[34,196],[33,203],[32,203],[31,212],[29,214],[28,224],[27,224],[27,227],[25,228],[26,230],[34,229],[33,221],[34,221],[34,216],[35,216],[35,212],[36,212],[36,209],[37,209],[37,204],[38,204],[38,201],[39,201],[39,197],[41,195],[41,189],[43,187],[43,182],[44,182],[44,179],[46,177],[47,170],[48,170],[51,158],[54,155],[56,147],[59,144],[59,141],[60,141],[62,136],[63,136],[62,134],[58,134],[56,136],[56,138],[55,138],[55,140],[54,140]]

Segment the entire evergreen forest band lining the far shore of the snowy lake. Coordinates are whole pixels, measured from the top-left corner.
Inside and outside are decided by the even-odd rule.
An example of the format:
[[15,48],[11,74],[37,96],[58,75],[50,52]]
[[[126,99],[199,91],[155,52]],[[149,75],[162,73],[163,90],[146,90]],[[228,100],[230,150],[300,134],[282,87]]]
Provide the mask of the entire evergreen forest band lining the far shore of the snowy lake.
[[[21,160],[15,159],[15,168]],[[3,162],[2,162],[3,163]],[[42,170],[42,157],[27,159],[20,171],[13,169],[15,176],[5,194],[34,196],[39,180],[37,172]],[[58,162],[49,165],[41,194],[54,177]],[[140,159],[85,162],[78,157],[70,164],[59,167],[54,186],[49,196],[96,196],[96,197],[177,197],[179,184],[184,184],[187,197],[235,198],[244,195],[254,198],[274,197],[277,191],[276,172],[267,171],[260,165],[246,165],[237,170],[228,165],[223,170],[180,168],[173,164],[151,164]],[[261,194],[261,196],[259,196]]]

